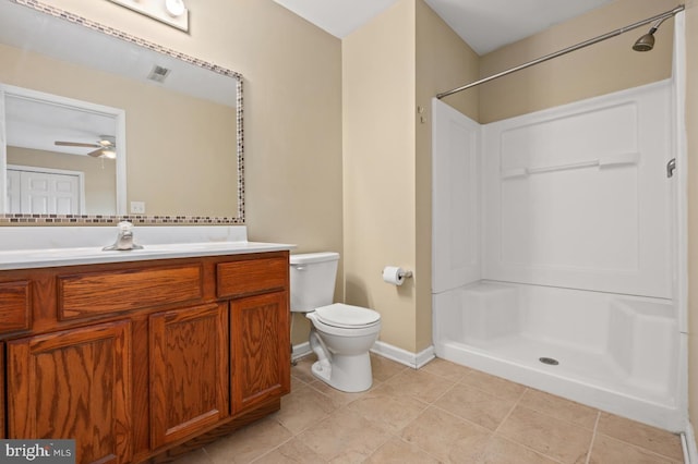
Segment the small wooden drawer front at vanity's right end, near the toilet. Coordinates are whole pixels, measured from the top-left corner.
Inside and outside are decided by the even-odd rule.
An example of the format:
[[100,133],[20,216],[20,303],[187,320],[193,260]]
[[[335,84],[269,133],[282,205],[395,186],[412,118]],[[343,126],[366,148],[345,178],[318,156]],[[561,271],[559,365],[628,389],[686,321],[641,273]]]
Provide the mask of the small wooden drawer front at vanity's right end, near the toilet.
[[279,257],[219,262],[216,278],[219,298],[284,289],[288,285],[288,259]]

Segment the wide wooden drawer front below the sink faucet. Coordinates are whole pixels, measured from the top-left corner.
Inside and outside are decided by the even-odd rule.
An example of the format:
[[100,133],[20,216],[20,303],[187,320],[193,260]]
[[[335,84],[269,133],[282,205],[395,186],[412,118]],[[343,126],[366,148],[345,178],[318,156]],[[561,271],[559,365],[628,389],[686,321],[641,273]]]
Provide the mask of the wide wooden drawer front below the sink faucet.
[[99,316],[203,297],[201,265],[85,272],[58,277],[61,320]]

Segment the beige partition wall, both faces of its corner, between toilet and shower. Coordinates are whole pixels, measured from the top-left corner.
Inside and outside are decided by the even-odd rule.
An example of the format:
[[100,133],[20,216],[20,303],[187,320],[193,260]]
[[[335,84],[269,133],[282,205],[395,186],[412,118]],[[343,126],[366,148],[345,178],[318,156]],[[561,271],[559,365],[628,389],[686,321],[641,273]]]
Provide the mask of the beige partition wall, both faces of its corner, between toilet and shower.
[[[477,54],[423,0],[400,0],[342,40],[346,301],[381,340],[431,345],[431,99],[477,77]],[[477,93],[454,105],[477,118]],[[414,271],[396,288],[381,270]]]

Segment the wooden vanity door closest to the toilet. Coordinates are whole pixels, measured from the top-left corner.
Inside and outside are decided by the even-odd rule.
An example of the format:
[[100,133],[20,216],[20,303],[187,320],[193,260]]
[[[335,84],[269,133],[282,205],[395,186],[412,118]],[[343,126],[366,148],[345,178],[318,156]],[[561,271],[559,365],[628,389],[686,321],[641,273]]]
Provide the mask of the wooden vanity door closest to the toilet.
[[290,391],[288,293],[275,292],[230,304],[232,413]]

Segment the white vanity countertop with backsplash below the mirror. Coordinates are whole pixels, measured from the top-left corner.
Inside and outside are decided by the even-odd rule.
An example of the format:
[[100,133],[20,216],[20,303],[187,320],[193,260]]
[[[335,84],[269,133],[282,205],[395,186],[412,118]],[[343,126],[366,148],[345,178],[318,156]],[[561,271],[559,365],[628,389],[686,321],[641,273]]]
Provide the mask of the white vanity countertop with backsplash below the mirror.
[[290,251],[296,245],[249,242],[244,227],[134,228],[142,249],[103,251],[116,228],[0,228],[0,270],[31,269],[197,256]]

